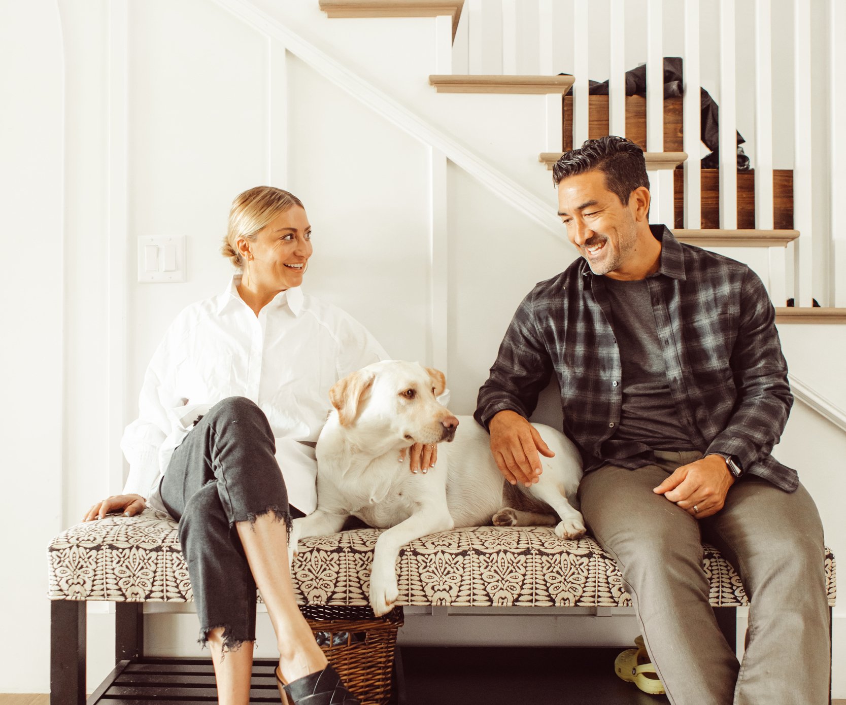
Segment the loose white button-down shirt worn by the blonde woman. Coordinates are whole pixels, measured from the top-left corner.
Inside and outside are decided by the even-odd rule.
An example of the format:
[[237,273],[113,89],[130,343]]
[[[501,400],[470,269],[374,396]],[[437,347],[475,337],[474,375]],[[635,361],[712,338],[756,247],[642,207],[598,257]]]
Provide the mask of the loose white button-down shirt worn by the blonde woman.
[[317,506],[314,445],[331,409],[329,388],[387,353],[349,314],[299,287],[278,293],[256,316],[239,281],[234,276],[220,296],[184,309],[153,355],[139,418],[121,440],[129,461],[124,493],[164,511],[158,487],[195,418],[228,396],[245,396],[270,422],[288,500],[308,514]]

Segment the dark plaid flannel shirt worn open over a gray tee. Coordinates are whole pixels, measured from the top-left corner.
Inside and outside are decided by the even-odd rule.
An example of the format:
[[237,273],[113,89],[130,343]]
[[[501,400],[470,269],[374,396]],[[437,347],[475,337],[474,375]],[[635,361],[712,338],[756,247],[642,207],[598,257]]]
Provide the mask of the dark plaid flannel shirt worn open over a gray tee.
[[[744,473],[796,489],[796,471],[770,455],[787,423],[793,396],[761,279],[728,257],[679,243],[663,226],[658,271],[646,277],[667,382],[678,418],[703,454],[739,459]],[[585,471],[606,461],[643,467],[651,448],[617,440],[623,404],[622,365],[603,276],[579,258],[523,299],[508,326],[475,419],[487,428],[511,409],[529,418],[555,374],[564,433],[580,447]]]

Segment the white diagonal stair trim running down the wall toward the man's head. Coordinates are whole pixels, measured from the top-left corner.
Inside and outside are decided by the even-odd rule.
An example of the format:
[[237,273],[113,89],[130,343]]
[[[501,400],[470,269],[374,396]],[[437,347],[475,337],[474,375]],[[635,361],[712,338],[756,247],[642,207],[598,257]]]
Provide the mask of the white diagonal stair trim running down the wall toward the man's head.
[[214,2],[248,25],[281,41],[289,52],[299,57],[333,85],[345,90],[364,105],[371,107],[376,113],[412,137],[419,139],[423,144],[440,150],[450,161],[453,161],[488,189],[491,189],[494,194],[505,199],[515,209],[530,216],[532,220],[546,228],[558,240],[563,239],[561,222],[555,216],[552,202],[547,203],[538,198],[535,194],[520,186],[519,183],[508,178],[503,172],[460,145],[451,136],[387,96],[365,79],[362,79],[359,74],[338,63],[326,52],[322,52],[290,27],[283,25],[271,15],[256,8],[249,0],[214,0]]

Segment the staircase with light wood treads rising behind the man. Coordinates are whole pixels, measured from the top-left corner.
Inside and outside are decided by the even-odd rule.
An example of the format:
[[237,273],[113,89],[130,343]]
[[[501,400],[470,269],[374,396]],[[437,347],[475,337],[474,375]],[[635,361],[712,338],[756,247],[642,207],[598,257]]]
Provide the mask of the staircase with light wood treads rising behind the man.
[[[541,0],[541,14],[543,12]],[[513,3],[503,2],[503,67],[514,68],[514,60],[506,57],[508,52],[513,56],[516,30],[508,27],[508,22],[514,21],[516,12]],[[321,0],[320,7],[332,17],[431,17],[445,16],[449,19],[451,39],[455,40],[462,23],[462,13],[468,13],[473,8],[478,9],[478,0]],[[466,30],[465,30],[466,31]],[[543,48],[541,47],[541,52]],[[571,75],[518,75],[518,74],[431,74],[429,83],[439,93],[465,94],[525,94],[547,96],[547,113],[561,113],[561,149],[568,150],[574,144],[574,96],[566,95],[572,92],[574,76]],[[562,100],[563,98],[563,100]],[[651,99],[654,101],[654,99]],[[588,107],[588,136],[590,139],[610,134],[611,113],[613,107],[609,96],[590,96]],[[625,134],[629,139],[646,149],[647,98],[643,96],[628,96],[624,107],[626,126]],[[550,123],[556,123],[554,115],[547,114],[547,136],[555,135]],[[846,309],[836,308],[788,308],[785,292],[785,273],[788,268],[786,255],[788,248],[794,247],[801,233],[793,227],[793,172],[790,170],[772,170],[772,218],[764,216],[764,220],[772,220],[772,228],[755,228],[755,171],[736,172],[733,180],[736,184],[736,196],[733,199],[737,215],[730,220],[736,221],[736,227],[720,228],[720,184],[718,169],[697,169],[700,172],[700,228],[685,228],[684,226],[684,162],[688,155],[682,150],[684,145],[684,105],[682,98],[668,98],[662,101],[662,146],[667,150],[645,151],[647,171],[651,174],[671,172],[672,182],[667,194],[666,188],[656,188],[656,178],[653,181],[653,199],[658,204],[657,210],[665,217],[662,221],[672,223],[678,239],[694,243],[700,247],[726,249],[766,248],[770,272],[767,281],[768,289],[777,306],[777,321],[781,323],[846,323]],[[557,135],[550,141],[555,141]],[[698,141],[698,140],[697,140]],[[551,145],[552,146],[552,145]],[[538,161],[547,169],[561,156],[561,151],[542,151]],[[667,182],[663,182],[666,184]],[[667,205],[667,200],[672,205]],[[670,217],[666,217],[670,216]],[[743,255],[738,255],[742,259]],[[781,305],[779,305],[781,304]]]

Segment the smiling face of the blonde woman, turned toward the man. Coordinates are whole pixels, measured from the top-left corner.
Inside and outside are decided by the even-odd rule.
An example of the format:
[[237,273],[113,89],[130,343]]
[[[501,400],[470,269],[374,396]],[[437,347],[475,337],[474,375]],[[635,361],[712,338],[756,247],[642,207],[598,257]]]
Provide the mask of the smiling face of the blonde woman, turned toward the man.
[[312,252],[308,216],[294,205],[261,228],[254,240],[239,238],[238,247],[250,281],[272,291],[299,287]]

